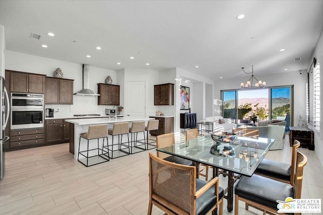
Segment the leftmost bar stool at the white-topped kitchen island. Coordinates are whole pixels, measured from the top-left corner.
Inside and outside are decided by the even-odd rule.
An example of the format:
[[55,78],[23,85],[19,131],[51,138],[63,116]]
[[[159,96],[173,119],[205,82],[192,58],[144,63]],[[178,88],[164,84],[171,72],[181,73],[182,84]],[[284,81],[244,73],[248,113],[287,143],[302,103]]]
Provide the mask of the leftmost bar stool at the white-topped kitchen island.
[[[80,151],[81,137],[84,139],[87,139],[87,150]],[[89,125],[87,133],[80,133],[79,153],[77,155],[77,160],[81,162],[83,165],[85,165],[86,167],[110,161],[109,151],[105,152],[99,148],[100,138],[103,138],[103,145],[104,145],[105,138],[107,142],[107,124]],[[89,141],[91,139],[97,139],[97,148],[89,149]],[[97,153],[91,153],[96,150],[97,150]],[[100,150],[102,151],[101,154],[100,154]],[[89,152],[92,155],[89,155]],[[80,155],[86,158],[86,163],[85,161],[83,161],[84,159],[80,159]]]

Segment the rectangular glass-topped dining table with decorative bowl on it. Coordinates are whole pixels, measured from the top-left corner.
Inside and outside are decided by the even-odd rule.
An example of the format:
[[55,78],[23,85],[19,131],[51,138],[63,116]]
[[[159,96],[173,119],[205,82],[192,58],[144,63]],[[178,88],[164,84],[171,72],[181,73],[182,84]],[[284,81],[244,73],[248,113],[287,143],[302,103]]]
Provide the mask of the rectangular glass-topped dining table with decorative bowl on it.
[[219,175],[219,169],[228,172],[225,198],[228,211],[231,212],[235,181],[242,175],[252,176],[274,141],[270,138],[237,136],[231,144],[223,144],[214,141],[209,134],[156,150],[193,161],[196,177],[199,175],[199,164],[213,167],[213,177]]

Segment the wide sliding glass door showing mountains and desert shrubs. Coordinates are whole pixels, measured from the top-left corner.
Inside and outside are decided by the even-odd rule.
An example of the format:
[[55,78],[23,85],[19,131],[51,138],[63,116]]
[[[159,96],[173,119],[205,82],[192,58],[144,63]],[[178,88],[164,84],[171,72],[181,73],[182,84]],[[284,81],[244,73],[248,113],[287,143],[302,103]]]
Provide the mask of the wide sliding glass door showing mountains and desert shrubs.
[[293,86],[267,87],[222,91],[224,118],[232,118],[238,124],[257,120],[286,120],[291,124]]

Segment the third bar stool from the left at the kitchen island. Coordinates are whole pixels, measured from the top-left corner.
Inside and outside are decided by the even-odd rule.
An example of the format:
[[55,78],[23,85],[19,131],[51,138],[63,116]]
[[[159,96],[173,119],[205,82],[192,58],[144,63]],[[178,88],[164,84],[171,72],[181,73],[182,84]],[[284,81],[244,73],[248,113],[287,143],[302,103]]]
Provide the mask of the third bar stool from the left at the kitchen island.
[[[144,138],[143,144],[142,144],[142,142],[137,141],[137,137],[138,137],[139,132],[143,132],[143,138]],[[145,121],[134,121],[134,122],[132,122],[131,128],[129,128],[129,133],[131,133],[130,154],[135,154],[135,153],[147,150],[146,149],[146,144],[145,144],[145,142],[146,142],[146,139],[145,139]],[[134,136],[134,138],[136,136],[136,139],[134,141],[132,140],[132,136]],[[137,146],[137,142],[140,143],[139,146]],[[132,143],[134,143],[134,145]],[[142,148],[141,146],[144,146],[144,148]],[[133,149],[135,150],[135,152],[132,151]]]

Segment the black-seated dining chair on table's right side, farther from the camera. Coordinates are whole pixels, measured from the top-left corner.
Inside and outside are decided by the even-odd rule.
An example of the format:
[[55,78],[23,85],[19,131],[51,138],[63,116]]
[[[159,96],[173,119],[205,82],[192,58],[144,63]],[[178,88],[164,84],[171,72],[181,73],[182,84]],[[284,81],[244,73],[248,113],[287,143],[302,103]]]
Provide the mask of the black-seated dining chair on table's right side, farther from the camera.
[[299,146],[300,142],[295,139],[292,149],[291,165],[273,160],[263,159],[255,170],[255,174],[294,185],[296,154],[297,148]]

